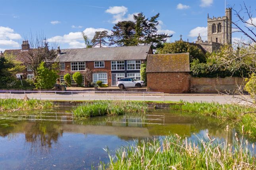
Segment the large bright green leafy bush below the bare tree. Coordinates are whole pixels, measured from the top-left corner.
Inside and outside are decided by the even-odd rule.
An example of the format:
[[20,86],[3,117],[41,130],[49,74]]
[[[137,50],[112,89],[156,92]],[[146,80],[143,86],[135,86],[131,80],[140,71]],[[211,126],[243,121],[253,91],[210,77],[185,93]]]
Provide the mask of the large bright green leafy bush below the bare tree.
[[41,62],[37,68],[37,82],[35,86],[37,89],[52,89],[58,77],[56,69],[46,68],[45,63]]

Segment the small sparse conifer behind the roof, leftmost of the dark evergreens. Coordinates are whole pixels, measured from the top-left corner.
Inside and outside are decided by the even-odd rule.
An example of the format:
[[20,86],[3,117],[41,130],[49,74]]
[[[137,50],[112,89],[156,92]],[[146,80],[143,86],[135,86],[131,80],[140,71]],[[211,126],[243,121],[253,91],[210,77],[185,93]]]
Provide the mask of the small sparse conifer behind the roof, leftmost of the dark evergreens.
[[108,38],[108,31],[96,31],[94,34],[94,37],[92,38],[92,47],[95,47],[97,45],[108,45],[107,38]]

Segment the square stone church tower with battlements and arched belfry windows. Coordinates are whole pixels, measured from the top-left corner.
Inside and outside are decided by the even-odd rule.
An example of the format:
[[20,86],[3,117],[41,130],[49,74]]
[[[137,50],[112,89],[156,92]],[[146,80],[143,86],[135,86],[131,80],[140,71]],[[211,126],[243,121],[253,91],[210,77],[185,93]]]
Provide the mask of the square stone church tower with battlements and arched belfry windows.
[[227,8],[225,10],[225,16],[223,17],[207,17],[207,38],[208,42],[215,42],[226,44],[232,43],[232,9]]

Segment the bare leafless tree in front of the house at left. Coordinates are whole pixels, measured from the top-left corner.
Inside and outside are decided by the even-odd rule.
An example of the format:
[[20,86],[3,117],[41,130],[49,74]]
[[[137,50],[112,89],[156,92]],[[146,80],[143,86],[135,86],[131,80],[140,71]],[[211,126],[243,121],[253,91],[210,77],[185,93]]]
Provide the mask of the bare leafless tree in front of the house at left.
[[49,43],[46,40],[46,36],[43,33],[37,33],[33,35],[30,33],[29,37],[25,37],[25,40],[29,41],[29,50],[24,51],[26,53],[21,58],[21,61],[33,71],[35,77],[37,77],[37,68],[41,62],[45,62],[45,66],[50,68],[52,61],[56,59],[56,43]]

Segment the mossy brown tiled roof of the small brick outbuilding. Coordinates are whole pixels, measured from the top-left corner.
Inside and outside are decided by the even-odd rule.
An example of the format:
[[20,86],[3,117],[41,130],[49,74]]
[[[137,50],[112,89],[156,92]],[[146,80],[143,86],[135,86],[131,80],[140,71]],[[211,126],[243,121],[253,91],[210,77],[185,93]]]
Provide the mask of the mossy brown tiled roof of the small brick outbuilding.
[[148,55],[147,73],[189,71],[189,53]]

